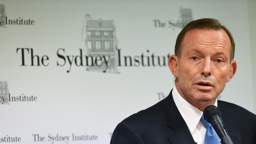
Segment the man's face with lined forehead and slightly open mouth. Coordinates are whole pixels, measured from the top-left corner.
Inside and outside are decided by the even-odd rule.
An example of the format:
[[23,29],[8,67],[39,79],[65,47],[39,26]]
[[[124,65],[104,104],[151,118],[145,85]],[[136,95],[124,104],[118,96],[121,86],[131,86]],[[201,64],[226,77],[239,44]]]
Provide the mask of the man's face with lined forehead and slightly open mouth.
[[169,61],[169,66],[176,65],[171,71],[180,95],[194,106],[214,104],[236,72],[236,61],[230,63],[230,54],[231,42],[224,30],[188,31],[181,44],[180,58],[172,55],[176,63]]

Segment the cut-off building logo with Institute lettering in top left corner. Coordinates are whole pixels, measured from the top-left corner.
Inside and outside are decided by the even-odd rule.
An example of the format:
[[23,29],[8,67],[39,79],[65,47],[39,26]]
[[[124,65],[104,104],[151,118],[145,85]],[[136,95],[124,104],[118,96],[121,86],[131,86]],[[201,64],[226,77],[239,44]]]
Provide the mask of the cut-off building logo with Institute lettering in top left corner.
[[0,4],[0,28],[7,28],[6,25],[34,25],[35,20],[23,19],[21,17],[10,19],[6,16],[6,9],[4,4]]

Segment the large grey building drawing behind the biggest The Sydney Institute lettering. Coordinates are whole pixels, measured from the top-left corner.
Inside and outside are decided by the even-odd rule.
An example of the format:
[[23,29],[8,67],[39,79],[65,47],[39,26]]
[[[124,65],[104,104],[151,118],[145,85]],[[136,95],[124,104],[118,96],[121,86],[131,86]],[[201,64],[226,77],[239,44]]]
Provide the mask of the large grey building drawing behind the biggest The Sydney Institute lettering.
[[113,20],[94,20],[90,15],[86,15],[85,27],[85,47],[87,54],[91,56],[105,55],[110,57],[108,66],[102,63],[101,66],[88,66],[88,71],[113,72],[117,71],[117,38]]

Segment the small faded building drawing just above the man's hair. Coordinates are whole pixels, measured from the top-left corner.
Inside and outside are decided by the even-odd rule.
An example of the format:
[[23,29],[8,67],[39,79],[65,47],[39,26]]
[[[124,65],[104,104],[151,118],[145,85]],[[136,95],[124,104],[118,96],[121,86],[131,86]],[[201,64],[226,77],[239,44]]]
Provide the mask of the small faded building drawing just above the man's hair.
[[191,21],[193,21],[192,9],[180,7],[180,20],[177,20],[177,22],[169,20],[169,27],[173,30],[174,28],[182,29]]

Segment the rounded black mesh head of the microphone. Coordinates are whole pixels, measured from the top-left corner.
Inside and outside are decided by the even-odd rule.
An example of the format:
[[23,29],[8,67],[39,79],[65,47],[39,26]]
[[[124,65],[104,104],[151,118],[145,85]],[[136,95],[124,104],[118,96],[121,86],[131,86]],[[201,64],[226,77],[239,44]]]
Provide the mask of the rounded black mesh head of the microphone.
[[204,119],[210,123],[212,116],[220,116],[221,117],[221,110],[216,107],[215,105],[208,105],[203,112]]

